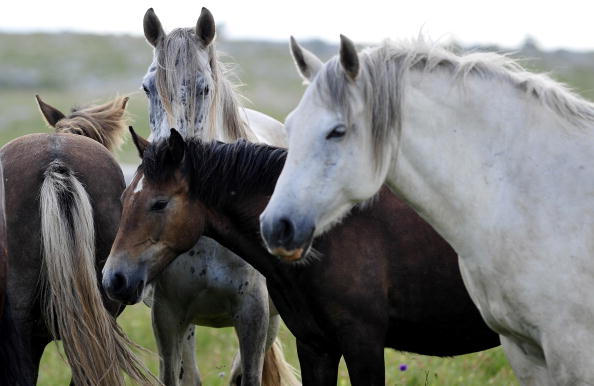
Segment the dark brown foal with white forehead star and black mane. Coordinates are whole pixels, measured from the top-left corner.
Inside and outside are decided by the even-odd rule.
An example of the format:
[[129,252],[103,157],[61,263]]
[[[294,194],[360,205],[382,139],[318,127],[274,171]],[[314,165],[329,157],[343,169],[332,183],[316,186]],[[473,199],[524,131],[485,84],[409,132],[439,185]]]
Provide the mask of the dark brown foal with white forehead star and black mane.
[[[143,161],[124,192],[104,270],[108,294],[139,301],[144,284],[207,235],[258,269],[297,338],[304,384],[335,385],[344,356],[353,385],[384,384],[384,347],[450,356],[499,344],[471,302],[457,256],[388,192],[314,244],[324,258],[287,264],[262,245],[258,216],[285,150],[133,134]],[[238,288],[241,291],[241,287]]]

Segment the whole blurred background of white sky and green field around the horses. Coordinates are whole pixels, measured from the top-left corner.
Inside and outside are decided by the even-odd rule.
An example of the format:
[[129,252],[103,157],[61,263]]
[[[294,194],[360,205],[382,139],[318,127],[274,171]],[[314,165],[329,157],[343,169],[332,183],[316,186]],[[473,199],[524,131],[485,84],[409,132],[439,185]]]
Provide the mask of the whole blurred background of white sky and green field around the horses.
[[[130,95],[133,125],[148,135],[147,102],[139,87],[152,60],[152,48],[142,37],[142,16],[149,6],[167,31],[193,26],[200,8],[207,6],[217,21],[221,60],[234,63],[243,104],[281,121],[304,90],[289,55],[290,34],[326,60],[337,52],[339,33],[364,47],[383,38],[414,38],[422,32],[457,52],[511,53],[527,68],[548,72],[585,98],[594,98],[594,27],[591,10],[583,2],[566,1],[562,7],[511,1],[496,7],[477,1],[406,6],[366,1],[352,7],[321,3],[11,2],[0,14],[0,144],[48,130],[35,94],[64,112],[118,94]],[[137,162],[130,141],[118,158]],[[147,307],[128,307],[119,322],[134,341],[156,350]],[[226,384],[237,348],[233,331],[200,328],[197,336],[204,384]],[[287,357],[298,367],[292,336],[286,329],[281,336]],[[58,347],[52,344],[44,354],[40,385],[62,385],[70,379]],[[157,372],[156,356],[144,358]],[[401,364],[407,365],[405,371]],[[386,380],[390,385],[517,384],[500,349],[454,359],[386,350]],[[344,364],[340,384],[349,384]]]

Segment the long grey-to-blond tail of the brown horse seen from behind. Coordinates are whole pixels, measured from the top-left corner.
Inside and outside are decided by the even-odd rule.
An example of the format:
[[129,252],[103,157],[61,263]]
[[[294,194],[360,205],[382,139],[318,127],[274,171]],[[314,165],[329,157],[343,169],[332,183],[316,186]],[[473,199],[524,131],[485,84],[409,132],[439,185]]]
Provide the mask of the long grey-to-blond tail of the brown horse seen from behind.
[[40,192],[43,268],[41,299],[47,328],[61,338],[74,384],[158,383],[134,355],[103,305],[95,270],[93,208],[72,170],[55,160]]

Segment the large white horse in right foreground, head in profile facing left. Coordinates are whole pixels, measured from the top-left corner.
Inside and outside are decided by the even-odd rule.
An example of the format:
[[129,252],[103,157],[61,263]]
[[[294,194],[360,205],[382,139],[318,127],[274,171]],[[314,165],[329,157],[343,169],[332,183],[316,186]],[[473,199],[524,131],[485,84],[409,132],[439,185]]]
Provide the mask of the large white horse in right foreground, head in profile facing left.
[[341,37],[322,66],[293,49],[311,85],[268,246],[306,248],[386,183],[458,252],[523,384],[594,384],[594,105],[493,53]]

